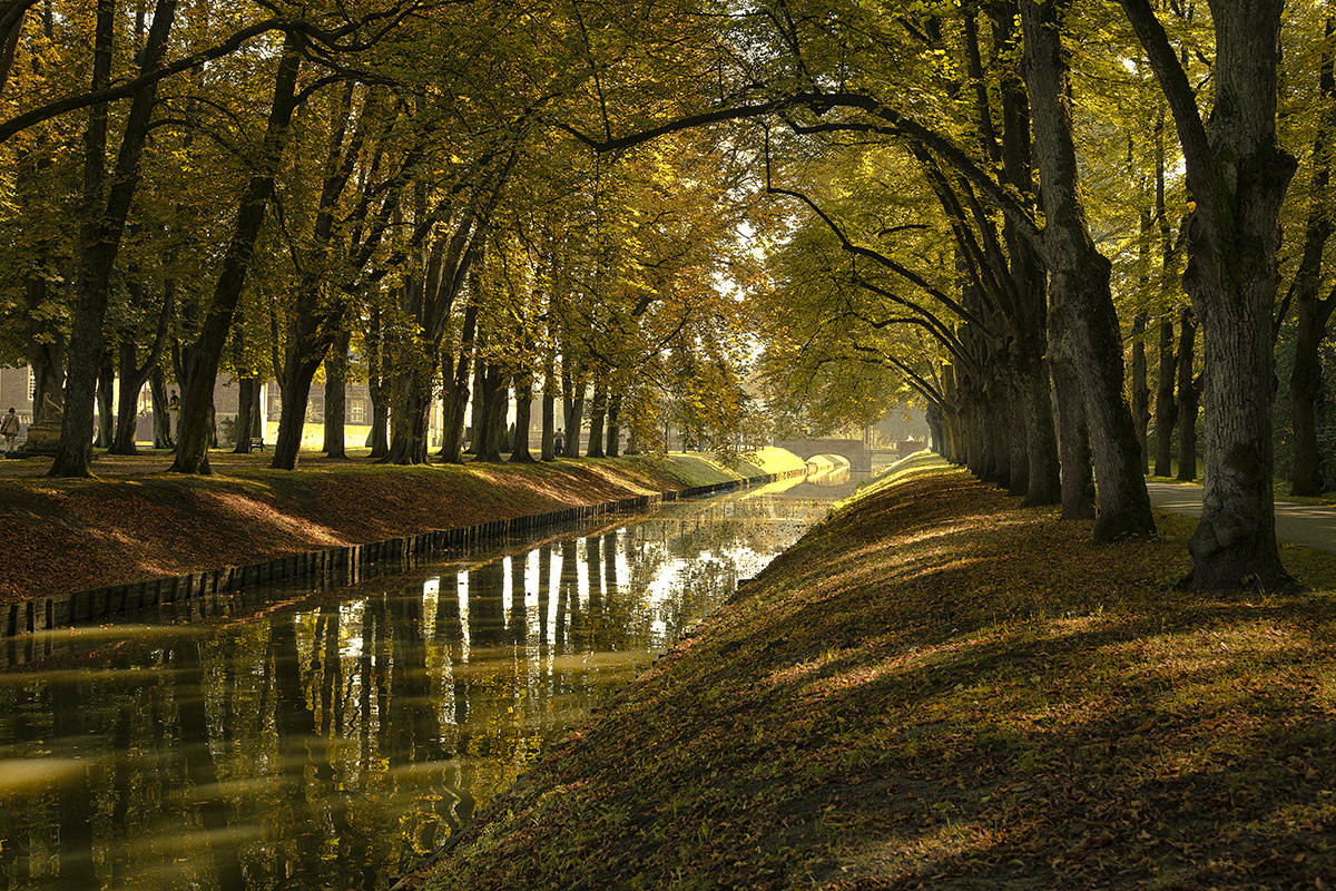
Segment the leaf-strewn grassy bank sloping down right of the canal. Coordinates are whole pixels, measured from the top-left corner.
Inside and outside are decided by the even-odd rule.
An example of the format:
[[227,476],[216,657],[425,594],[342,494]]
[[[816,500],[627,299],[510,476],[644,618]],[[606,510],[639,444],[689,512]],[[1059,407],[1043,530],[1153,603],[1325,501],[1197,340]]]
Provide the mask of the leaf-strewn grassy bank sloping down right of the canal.
[[1333,558],[1284,549],[1316,593],[1186,593],[1186,518],[1093,548],[918,464],[410,884],[1336,888]]

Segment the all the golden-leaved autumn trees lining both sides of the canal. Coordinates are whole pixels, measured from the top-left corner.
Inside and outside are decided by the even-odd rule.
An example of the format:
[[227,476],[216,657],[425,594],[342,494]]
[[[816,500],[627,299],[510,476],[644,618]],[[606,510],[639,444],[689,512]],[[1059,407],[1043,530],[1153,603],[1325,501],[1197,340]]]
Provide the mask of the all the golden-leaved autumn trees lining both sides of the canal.
[[771,421],[916,394],[950,457],[1108,541],[1154,530],[1149,345],[1158,473],[1177,421],[1196,474],[1202,410],[1193,584],[1291,584],[1276,345],[1311,493],[1336,302],[1313,0],[86,5],[0,7],[5,331],[39,401],[64,375],[53,474],[90,472],[99,382],[132,406],[160,365],[186,473],[220,371],[279,381],[294,468],[322,363],[397,462],[438,391],[454,461],[512,382],[544,457],[591,386],[595,453],[664,395],[728,438],[755,331]]

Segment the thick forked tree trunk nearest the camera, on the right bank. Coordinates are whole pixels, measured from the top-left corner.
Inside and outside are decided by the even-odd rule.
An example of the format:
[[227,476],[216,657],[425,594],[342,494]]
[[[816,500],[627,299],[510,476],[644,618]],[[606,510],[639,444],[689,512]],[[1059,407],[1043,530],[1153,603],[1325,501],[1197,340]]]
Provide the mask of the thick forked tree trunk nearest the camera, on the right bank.
[[[1293,588],[1276,545],[1273,318],[1280,211],[1295,159],[1276,140],[1280,0],[1216,0],[1210,119],[1148,0],[1121,0],[1178,127],[1188,271],[1202,331],[1205,490],[1188,550],[1198,590]],[[1181,434],[1181,431],[1180,431]]]

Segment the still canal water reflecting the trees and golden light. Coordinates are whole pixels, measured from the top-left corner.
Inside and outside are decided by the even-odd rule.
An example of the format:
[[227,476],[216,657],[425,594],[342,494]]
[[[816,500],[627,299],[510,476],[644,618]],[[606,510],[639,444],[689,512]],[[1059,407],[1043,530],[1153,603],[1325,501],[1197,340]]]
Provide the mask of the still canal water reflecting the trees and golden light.
[[774,484],[0,655],[0,891],[385,890],[852,484]]

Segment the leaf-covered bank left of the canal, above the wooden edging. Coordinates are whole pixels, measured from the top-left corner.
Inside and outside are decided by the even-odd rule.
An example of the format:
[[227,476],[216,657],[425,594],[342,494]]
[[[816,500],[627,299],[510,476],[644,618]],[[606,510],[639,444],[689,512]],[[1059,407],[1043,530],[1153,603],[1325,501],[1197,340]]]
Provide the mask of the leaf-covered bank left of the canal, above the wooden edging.
[[273,560],[430,529],[688,489],[803,468],[780,449],[727,465],[707,454],[395,468],[211,454],[215,473],[166,473],[171,456],[102,456],[98,478],[48,480],[49,460],[0,461],[0,604]]

